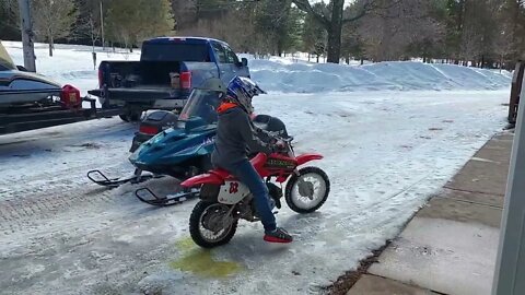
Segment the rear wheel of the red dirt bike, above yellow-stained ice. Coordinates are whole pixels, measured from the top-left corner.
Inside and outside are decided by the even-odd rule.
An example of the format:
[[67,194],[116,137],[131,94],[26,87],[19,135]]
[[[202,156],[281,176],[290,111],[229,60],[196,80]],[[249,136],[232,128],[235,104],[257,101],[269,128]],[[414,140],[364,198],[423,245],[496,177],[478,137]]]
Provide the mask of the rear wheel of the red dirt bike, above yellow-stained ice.
[[[226,219],[231,220],[226,228],[222,226],[222,220],[229,209],[225,204],[207,201],[199,201],[195,205],[189,217],[189,234],[195,244],[203,248],[213,248],[228,244],[233,238],[238,221],[228,216]],[[209,234],[217,237],[210,237]]]

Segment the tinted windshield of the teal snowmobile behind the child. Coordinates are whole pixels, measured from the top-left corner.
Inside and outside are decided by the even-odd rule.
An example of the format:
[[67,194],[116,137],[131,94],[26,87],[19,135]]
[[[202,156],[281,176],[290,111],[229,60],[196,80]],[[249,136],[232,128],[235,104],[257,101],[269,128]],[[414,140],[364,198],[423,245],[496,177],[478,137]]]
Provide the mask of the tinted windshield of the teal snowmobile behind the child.
[[199,117],[208,125],[217,123],[217,108],[221,102],[221,92],[209,90],[194,90],[188,102],[178,116],[179,120]]

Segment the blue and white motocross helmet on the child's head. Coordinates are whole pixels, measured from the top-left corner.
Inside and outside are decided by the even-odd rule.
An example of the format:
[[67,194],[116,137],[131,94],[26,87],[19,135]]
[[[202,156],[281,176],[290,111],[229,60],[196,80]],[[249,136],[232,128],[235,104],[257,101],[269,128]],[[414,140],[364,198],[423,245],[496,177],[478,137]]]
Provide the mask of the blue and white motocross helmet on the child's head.
[[265,94],[257,83],[245,76],[235,76],[228,84],[226,95],[230,99],[237,103],[246,113],[252,114],[252,98],[259,94]]

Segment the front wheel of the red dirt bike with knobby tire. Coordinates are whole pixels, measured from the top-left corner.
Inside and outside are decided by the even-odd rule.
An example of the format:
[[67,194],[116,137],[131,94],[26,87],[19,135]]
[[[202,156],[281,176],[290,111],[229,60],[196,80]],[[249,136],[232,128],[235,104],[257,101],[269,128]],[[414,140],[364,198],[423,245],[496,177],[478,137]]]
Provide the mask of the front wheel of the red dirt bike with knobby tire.
[[312,213],[325,203],[329,192],[330,180],[326,173],[317,167],[304,167],[288,181],[284,199],[291,210]]

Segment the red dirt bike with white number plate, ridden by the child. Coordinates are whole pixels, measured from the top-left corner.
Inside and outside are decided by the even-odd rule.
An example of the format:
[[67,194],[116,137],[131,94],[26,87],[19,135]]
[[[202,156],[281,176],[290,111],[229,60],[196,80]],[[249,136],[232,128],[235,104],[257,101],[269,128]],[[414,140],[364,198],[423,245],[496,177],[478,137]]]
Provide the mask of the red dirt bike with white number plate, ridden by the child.
[[[323,158],[319,154],[295,156],[292,139],[279,139],[282,149],[267,155],[257,154],[250,160],[257,173],[266,179],[270,198],[281,208],[282,184],[287,204],[298,213],[311,213],[325,203],[330,191],[330,181],[325,172],[317,167],[299,166]],[[272,178],[281,188],[270,182]],[[223,169],[210,170],[182,184],[185,188],[201,187],[201,199],[189,217],[189,233],[194,241],[212,248],[229,243],[237,228],[238,220],[259,221],[254,197],[249,189]]]

